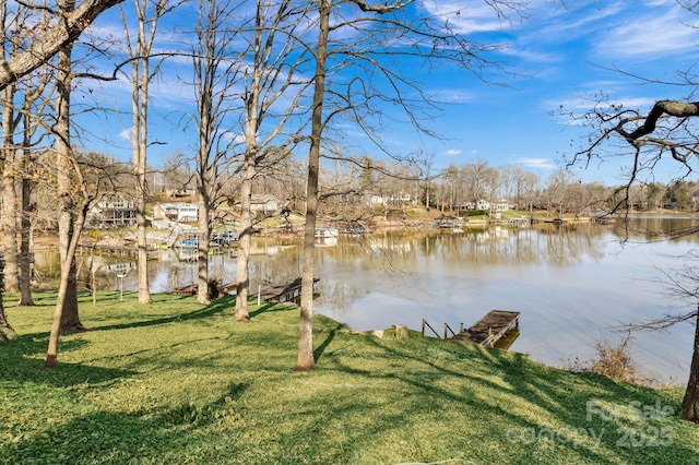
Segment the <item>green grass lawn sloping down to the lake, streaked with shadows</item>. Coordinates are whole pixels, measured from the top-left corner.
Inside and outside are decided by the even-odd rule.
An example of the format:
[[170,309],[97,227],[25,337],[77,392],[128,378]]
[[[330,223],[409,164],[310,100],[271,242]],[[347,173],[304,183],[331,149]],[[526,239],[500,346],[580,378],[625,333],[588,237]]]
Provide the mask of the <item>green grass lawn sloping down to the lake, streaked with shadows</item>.
[[232,299],[153,297],[84,297],[93,331],[62,336],[45,371],[55,296],[5,296],[20,334],[0,343],[0,463],[699,463],[682,390],[321,315],[318,369],[301,374],[295,307],[251,301],[251,323],[236,324]]

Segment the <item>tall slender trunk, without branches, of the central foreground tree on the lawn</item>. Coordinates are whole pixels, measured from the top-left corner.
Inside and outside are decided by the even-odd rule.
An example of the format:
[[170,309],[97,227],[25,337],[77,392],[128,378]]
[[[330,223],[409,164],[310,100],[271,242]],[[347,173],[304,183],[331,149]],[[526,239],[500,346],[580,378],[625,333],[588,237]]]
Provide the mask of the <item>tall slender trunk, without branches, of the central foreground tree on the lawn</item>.
[[319,34],[316,50],[308,180],[306,183],[306,226],[304,229],[301,308],[298,324],[298,360],[296,367],[294,367],[295,371],[311,371],[316,369],[313,355],[313,266],[316,262],[316,245],[313,240],[318,214],[318,172],[320,169],[320,142],[323,131],[322,111],[325,94],[325,59],[331,7],[331,0],[318,0]]

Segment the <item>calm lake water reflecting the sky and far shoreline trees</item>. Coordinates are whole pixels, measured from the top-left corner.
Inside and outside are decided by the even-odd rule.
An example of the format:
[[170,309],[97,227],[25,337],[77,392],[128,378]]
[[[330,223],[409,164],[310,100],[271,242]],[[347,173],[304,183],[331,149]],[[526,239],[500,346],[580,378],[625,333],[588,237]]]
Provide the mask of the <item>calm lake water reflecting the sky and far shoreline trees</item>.
[[[566,366],[593,358],[599,341],[623,341],[620,325],[696,308],[695,301],[668,296],[663,272],[685,266],[683,255],[697,248],[699,236],[668,241],[657,235],[697,225],[664,215],[633,218],[628,227],[618,220],[341,237],[317,249],[320,297],[315,311],[358,331],[394,324],[419,330],[425,319],[440,333],[445,323],[454,330],[460,323],[469,326],[489,310],[519,311],[520,336],[511,350]],[[256,238],[251,294],[300,276],[299,252],[297,240]],[[44,261],[52,260],[39,255],[40,271]],[[137,288],[132,262],[83,257],[83,275],[90,260],[102,277],[98,289]],[[235,262],[235,250],[214,254],[211,273],[234,282]],[[159,251],[149,266],[153,293],[197,278],[191,252]],[[126,275],[122,283],[118,275]],[[682,323],[635,333],[631,351],[647,375],[684,384],[692,343],[694,324]]]

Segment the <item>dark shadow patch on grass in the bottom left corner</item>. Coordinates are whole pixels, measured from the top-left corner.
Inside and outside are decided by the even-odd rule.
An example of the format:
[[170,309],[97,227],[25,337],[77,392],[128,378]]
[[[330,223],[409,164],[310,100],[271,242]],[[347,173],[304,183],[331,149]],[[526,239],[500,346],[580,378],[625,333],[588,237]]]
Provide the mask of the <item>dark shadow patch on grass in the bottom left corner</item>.
[[242,420],[237,401],[247,388],[230,383],[217,400],[202,405],[175,402],[131,413],[73,410],[70,420],[44,424],[32,433],[24,425],[10,425],[3,431],[11,439],[0,448],[0,463],[185,463],[182,456],[193,454],[190,448],[199,463],[218,463],[215,451],[202,452],[200,445],[208,441],[210,427],[221,431]]

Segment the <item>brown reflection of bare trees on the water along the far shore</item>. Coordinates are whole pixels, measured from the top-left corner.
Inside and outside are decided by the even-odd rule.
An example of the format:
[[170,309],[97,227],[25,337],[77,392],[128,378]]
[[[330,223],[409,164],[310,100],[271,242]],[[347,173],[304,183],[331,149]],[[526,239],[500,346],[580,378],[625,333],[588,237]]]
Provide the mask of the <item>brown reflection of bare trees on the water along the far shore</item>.
[[[650,222],[649,225],[653,225]],[[671,226],[676,226],[671,222]],[[342,284],[325,283],[321,273],[333,276],[372,276],[371,278],[410,278],[412,273],[459,272],[465,265],[517,265],[554,263],[574,264],[583,257],[599,258],[609,227],[600,225],[552,225],[528,228],[489,227],[469,229],[463,234],[429,231],[382,231],[365,238],[341,237],[337,246],[317,249],[317,277],[321,278],[323,301],[346,309],[353,299],[366,293]],[[614,229],[616,231],[616,227]],[[300,276],[298,240],[260,239],[250,260],[250,286],[266,287],[288,283]],[[222,283],[235,281],[235,249],[211,259],[211,275]],[[87,260],[83,257],[82,260]],[[123,259],[104,258],[108,263]],[[37,273],[58,273],[57,253],[37,254]],[[174,287],[197,282],[197,262],[178,260],[173,250],[158,251],[149,261],[152,291],[169,291]],[[108,267],[97,270],[98,289],[116,288],[115,275]],[[90,266],[82,266],[80,279],[88,277]],[[137,274],[129,273],[125,289],[134,289]],[[355,279],[352,279],[355,281]]]

